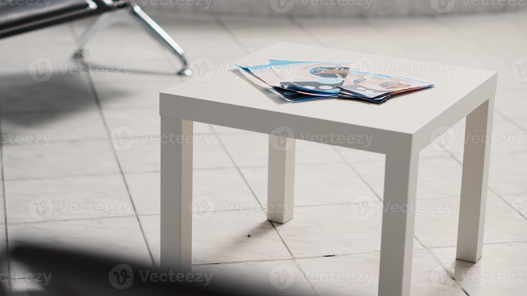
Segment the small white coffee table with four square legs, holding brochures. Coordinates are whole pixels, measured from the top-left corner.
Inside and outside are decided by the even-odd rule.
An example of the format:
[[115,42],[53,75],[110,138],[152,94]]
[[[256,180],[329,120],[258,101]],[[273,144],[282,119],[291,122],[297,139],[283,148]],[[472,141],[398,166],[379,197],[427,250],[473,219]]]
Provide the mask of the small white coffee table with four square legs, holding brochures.
[[[268,206],[274,209],[292,206],[294,138],[301,135],[319,139],[341,135],[340,139],[346,140],[335,140],[331,144],[385,154],[384,205],[404,206],[416,200],[418,154],[431,139],[465,116],[465,132],[470,133],[471,139],[491,134],[496,72],[454,67],[448,76],[438,64],[290,43],[271,45],[236,62],[265,64],[269,58],[359,59],[373,61],[377,72],[387,66],[391,69],[414,67],[426,69],[427,74],[418,78],[437,85],[396,96],[381,105],[347,99],[288,103],[267,90],[257,89],[241,75],[217,68],[207,81],[190,80],[163,91],[160,115],[164,136],[182,135],[188,139],[193,121],[270,135]],[[373,137],[370,145],[357,140],[363,136]],[[316,137],[312,139],[317,141]],[[467,141],[464,150],[456,258],[471,262],[479,260],[482,252],[490,156],[490,144],[486,143],[485,140]],[[164,269],[191,269],[191,201],[192,143],[162,142],[161,262]],[[268,213],[269,220],[280,223],[291,218],[292,212]],[[379,295],[409,295],[414,220],[412,211],[383,212]]]

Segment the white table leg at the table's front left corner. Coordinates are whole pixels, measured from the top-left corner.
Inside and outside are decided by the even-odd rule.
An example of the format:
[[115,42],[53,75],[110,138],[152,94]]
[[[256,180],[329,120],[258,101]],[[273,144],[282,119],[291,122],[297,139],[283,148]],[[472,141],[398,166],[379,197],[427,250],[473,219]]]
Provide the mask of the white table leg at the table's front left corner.
[[161,116],[161,264],[191,272],[193,121]]

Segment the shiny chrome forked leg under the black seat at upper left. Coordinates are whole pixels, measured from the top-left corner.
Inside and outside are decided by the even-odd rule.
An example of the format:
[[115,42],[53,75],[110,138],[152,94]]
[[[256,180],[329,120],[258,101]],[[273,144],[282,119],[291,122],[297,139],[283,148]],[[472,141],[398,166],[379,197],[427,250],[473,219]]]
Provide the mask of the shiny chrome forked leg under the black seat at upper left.
[[192,70],[188,67],[187,59],[184,56],[184,50],[179,46],[170,35],[168,35],[161,26],[159,26],[154,20],[135,3],[130,3],[131,7],[114,8],[115,11],[118,9],[129,9],[126,12],[113,12],[108,11],[99,15],[95,21],[85,30],[79,39],[79,49],[76,50],[74,57],[83,58],[86,57],[88,52],[85,49],[86,43],[101,30],[108,28],[115,24],[125,23],[129,25],[140,26],[147,30],[150,36],[158,40],[164,47],[168,48],[173,54],[175,54],[180,60],[182,69],[177,73],[181,76],[191,76]]

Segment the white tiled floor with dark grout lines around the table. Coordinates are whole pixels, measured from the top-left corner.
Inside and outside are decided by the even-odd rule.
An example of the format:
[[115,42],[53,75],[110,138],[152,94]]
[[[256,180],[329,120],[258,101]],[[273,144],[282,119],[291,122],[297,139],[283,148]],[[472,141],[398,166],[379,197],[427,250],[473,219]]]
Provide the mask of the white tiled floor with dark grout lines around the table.
[[[191,60],[206,56],[224,68],[230,66],[224,63],[285,40],[498,70],[494,132],[515,140],[492,148],[483,258],[475,264],[455,260],[461,122],[454,127],[457,141],[451,150],[430,146],[421,154],[418,201],[432,210],[417,213],[412,295],[527,294],[527,83],[510,72],[511,63],[527,55],[526,13],[339,19],[345,28],[339,30],[328,19],[270,21],[159,11],[152,16]],[[31,238],[127,254],[157,266],[158,93],[184,79],[171,75],[176,59],[147,35],[126,27],[93,39],[85,63],[131,66],[129,77],[63,75],[57,69],[82,65],[70,56],[87,24],[85,19],[0,40],[0,56],[8,57],[0,59],[4,239],[9,248]],[[51,58],[55,67],[45,83],[28,76],[28,65],[41,56]],[[112,149],[110,143],[118,148],[119,143],[107,136],[121,126],[134,132],[125,151]],[[266,136],[198,123],[194,129],[210,140],[194,148],[194,196],[210,196],[215,209],[194,215],[194,271],[211,271],[218,281],[236,280],[270,293],[376,294],[380,211],[354,216],[350,208],[356,205],[350,202],[367,195],[370,208],[380,206],[383,156],[299,142],[295,218],[276,224],[266,220],[260,206],[267,199]],[[17,144],[8,135],[51,141]],[[40,216],[30,208],[33,198],[43,195],[53,200],[54,210],[37,220]],[[68,205],[120,205],[128,211],[82,212]],[[10,269],[25,268],[11,262]],[[290,288],[275,288],[285,287],[274,278],[277,270],[292,274],[286,283]],[[487,276],[493,273],[500,277]],[[11,287],[34,285],[12,279]]]

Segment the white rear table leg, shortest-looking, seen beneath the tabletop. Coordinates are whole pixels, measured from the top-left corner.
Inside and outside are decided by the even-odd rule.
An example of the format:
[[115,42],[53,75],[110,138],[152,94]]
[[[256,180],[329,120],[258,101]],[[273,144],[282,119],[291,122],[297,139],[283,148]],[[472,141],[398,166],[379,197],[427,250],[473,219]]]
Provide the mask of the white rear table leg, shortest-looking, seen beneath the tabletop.
[[295,139],[269,135],[267,219],[285,223],[293,218]]

